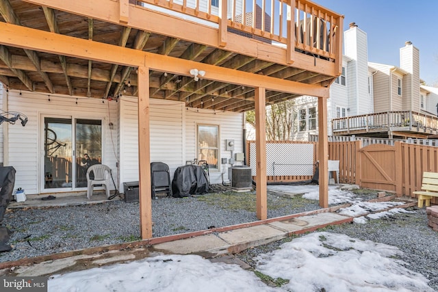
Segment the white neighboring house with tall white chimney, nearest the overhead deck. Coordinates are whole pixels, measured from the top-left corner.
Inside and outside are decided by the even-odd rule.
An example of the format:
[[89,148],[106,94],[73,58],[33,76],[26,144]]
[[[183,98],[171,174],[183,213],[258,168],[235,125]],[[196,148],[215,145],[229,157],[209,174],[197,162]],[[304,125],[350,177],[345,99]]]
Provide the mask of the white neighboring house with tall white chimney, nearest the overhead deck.
[[[332,135],[331,120],[373,111],[372,74],[368,68],[368,42],[365,31],[355,23],[344,31],[344,55],[342,74],[330,87],[327,99],[327,127]],[[296,129],[294,140],[309,140],[309,135],[318,135],[318,98],[300,96],[295,98]],[[316,117],[316,118],[315,118]],[[315,121],[313,121],[315,119]],[[340,122],[344,124],[343,121]]]

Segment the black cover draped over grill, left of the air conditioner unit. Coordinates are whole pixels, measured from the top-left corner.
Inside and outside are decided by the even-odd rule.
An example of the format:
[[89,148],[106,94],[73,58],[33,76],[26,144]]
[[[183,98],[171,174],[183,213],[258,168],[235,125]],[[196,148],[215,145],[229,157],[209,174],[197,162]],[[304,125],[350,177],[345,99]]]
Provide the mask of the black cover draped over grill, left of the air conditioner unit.
[[172,180],[172,196],[174,198],[202,195],[209,189],[207,174],[201,166],[184,165],[175,170]]

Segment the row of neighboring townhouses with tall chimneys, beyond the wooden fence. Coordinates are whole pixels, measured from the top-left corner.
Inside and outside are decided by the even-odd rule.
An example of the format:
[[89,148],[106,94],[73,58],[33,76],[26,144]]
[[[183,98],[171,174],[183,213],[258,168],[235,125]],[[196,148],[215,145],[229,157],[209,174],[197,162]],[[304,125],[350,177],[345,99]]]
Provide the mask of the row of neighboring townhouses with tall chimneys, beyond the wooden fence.
[[[329,135],[436,137],[438,89],[421,85],[420,52],[411,42],[400,49],[400,67],[368,62],[367,35],[351,23],[344,31],[344,52],[342,75],[327,100]],[[295,99],[294,140],[318,135],[309,122],[318,117],[317,101]]]

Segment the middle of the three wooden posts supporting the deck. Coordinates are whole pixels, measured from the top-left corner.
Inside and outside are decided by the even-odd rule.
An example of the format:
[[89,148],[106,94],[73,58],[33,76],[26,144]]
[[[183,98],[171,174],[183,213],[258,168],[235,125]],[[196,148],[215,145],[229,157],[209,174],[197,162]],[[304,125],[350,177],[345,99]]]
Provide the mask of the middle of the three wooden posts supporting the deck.
[[266,187],[266,89],[255,88],[255,194],[257,219],[268,218],[268,189]]

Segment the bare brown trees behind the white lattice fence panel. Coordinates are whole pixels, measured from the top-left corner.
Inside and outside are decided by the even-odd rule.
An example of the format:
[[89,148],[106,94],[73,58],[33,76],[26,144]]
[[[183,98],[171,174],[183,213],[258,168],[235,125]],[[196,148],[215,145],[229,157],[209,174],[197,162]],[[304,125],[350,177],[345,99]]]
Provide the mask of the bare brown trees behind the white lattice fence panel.
[[[266,107],[266,140],[292,140],[296,114],[294,100]],[[255,111],[246,112],[246,122],[255,127]]]

